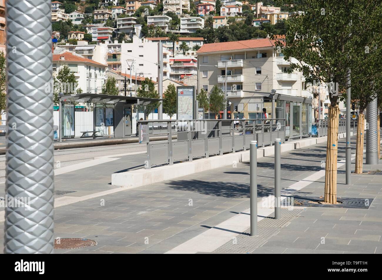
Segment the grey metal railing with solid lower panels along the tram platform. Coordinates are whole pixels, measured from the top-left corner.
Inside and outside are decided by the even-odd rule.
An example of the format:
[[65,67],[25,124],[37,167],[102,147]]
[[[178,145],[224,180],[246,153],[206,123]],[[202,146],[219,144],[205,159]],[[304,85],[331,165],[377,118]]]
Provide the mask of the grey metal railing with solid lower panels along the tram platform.
[[[246,151],[251,140],[262,147],[285,141],[285,119],[146,120],[138,126],[139,142],[147,145],[146,169]],[[150,142],[150,135],[167,135],[167,141]]]

